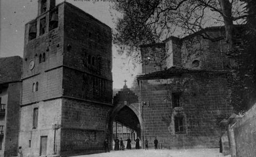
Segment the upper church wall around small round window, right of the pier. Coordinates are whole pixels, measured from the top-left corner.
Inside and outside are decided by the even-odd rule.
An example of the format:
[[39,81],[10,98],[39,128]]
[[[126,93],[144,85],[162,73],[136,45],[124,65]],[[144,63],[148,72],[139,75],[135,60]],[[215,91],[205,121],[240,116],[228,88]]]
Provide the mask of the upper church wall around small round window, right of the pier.
[[[207,31],[211,37],[219,37],[218,30]],[[223,33],[221,31],[221,33]],[[182,67],[196,69],[228,69],[229,60],[225,56],[227,44],[225,41],[212,42],[199,35],[182,39],[181,58]],[[193,61],[199,60],[199,66],[193,66]]]

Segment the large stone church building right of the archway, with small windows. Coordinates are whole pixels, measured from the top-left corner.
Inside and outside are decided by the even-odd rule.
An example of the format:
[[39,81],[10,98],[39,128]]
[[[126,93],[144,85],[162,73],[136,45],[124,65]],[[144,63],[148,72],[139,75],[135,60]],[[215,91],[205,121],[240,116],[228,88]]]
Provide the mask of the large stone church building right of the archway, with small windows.
[[140,100],[148,104],[142,108],[142,134],[152,147],[155,137],[169,149],[219,147],[219,123],[233,114],[227,85],[231,63],[226,43],[204,39],[204,32],[222,38],[223,28],[141,46],[144,68],[137,80]]

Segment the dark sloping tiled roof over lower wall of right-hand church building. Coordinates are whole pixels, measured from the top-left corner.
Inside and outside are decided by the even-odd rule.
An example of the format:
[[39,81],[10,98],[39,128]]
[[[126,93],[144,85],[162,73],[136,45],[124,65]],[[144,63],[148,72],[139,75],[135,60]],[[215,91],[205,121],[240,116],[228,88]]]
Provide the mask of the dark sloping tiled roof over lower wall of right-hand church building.
[[170,67],[164,71],[158,71],[143,75],[138,75],[138,80],[150,80],[150,79],[166,79],[170,76],[181,75],[181,74],[225,74],[229,71],[208,71],[200,69],[187,69],[182,67]]

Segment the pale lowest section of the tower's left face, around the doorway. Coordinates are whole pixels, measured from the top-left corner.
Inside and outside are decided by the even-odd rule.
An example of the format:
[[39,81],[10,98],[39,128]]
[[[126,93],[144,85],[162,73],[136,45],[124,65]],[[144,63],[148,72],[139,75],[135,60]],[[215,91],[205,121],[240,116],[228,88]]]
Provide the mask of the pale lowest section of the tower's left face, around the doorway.
[[[22,146],[23,156],[39,156],[40,138],[47,136],[47,155],[53,154],[54,124],[61,124],[61,99],[40,101],[27,106],[21,106],[19,146]],[[38,125],[33,128],[33,111],[38,108]],[[29,147],[31,140],[31,147]],[[60,152],[60,129],[56,133],[57,154]]]

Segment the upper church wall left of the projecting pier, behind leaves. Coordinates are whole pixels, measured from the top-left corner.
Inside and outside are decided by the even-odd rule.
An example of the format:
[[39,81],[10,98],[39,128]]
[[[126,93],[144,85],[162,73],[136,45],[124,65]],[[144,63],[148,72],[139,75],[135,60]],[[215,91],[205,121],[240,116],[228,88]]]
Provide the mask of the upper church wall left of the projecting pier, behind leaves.
[[140,46],[142,73],[162,71],[166,67],[164,43],[152,43]]

